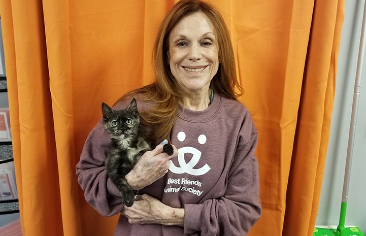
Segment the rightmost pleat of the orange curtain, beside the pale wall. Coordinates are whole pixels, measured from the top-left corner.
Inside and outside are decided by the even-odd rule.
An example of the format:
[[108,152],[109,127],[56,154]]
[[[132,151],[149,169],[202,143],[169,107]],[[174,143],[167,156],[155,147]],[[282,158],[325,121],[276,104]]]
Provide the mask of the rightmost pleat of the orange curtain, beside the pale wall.
[[[324,11],[327,14],[324,14]],[[344,9],[316,1],[291,158],[283,235],[311,235],[318,210],[328,147],[337,55]],[[337,37],[338,36],[338,37]],[[306,178],[304,178],[306,177]],[[297,224],[304,221],[306,223]]]

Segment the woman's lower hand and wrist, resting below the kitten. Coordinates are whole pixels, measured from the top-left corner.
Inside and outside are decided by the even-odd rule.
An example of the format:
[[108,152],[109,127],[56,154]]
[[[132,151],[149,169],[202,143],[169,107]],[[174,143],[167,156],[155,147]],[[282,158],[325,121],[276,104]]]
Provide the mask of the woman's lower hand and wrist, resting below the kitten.
[[121,211],[131,224],[163,224],[184,226],[184,209],[164,205],[147,194],[137,195],[134,205]]

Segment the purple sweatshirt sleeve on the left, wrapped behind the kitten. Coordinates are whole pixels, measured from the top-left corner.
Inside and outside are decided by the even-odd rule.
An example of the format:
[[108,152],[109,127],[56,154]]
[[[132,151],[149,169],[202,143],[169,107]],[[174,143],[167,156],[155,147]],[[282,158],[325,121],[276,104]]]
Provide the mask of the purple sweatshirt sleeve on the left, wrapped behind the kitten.
[[106,217],[119,213],[123,208],[118,189],[107,178],[105,160],[110,142],[100,120],[85,141],[76,165],[78,182],[84,190],[86,201]]

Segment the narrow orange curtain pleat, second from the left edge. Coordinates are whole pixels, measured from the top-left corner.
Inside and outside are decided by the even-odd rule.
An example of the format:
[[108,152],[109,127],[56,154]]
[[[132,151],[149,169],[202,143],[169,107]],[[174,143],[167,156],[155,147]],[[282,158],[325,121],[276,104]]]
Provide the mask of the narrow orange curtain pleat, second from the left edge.
[[82,235],[78,185],[75,181],[75,136],[70,54],[69,5],[65,1],[43,2],[44,24],[52,101],[54,139],[59,176],[62,229],[59,235]]

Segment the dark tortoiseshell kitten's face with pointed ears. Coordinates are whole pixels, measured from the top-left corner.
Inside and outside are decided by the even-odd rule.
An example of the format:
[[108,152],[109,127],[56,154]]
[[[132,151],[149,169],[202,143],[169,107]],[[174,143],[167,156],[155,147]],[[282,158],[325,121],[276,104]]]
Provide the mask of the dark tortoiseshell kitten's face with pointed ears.
[[139,130],[140,118],[135,98],[124,110],[113,110],[102,104],[103,123],[111,138],[126,139],[135,136]]

